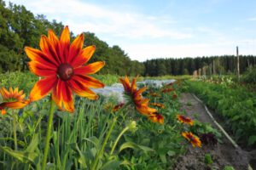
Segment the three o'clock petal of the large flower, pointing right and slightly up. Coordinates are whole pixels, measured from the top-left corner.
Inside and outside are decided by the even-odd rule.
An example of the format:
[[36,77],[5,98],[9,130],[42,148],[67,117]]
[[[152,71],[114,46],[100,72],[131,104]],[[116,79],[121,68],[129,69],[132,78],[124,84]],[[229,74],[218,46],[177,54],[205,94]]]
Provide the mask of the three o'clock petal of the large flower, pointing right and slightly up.
[[100,71],[102,67],[105,65],[105,62],[97,61],[95,63],[91,63],[90,65],[84,65],[73,70],[75,75],[87,75],[94,74],[97,71]]

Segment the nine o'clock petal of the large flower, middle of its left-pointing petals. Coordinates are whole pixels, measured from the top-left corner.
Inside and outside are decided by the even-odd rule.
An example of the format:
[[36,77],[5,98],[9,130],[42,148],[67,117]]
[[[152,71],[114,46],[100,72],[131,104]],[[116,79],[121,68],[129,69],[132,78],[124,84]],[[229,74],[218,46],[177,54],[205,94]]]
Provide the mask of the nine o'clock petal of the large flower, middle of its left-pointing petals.
[[51,75],[55,75],[57,68],[50,67],[49,65],[43,65],[42,63],[38,63],[37,61],[28,62],[29,70],[32,71],[38,77],[49,77]]

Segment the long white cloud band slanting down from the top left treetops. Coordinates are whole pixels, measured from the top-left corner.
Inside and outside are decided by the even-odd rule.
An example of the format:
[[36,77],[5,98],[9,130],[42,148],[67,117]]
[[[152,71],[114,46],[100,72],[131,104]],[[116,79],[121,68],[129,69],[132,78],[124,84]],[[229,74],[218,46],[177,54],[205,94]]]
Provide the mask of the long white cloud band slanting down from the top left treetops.
[[[12,2],[15,2],[12,1]],[[188,32],[170,29],[175,21],[161,16],[106,8],[79,0],[18,1],[37,14],[46,14],[51,19],[61,18],[76,34],[92,31],[96,35],[108,33],[113,37],[143,38],[166,37],[185,39],[192,37]]]

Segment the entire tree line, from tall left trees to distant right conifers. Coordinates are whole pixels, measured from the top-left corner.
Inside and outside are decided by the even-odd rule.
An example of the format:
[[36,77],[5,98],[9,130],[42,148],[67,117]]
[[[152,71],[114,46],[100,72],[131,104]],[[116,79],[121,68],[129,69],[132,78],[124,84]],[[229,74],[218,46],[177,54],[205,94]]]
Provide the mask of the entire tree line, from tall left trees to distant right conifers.
[[[49,21],[43,14],[34,15],[23,5],[6,3],[0,0],[0,72],[27,71],[24,47],[39,48],[41,35],[47,35],[49,29],[60,36],[63,24],[56,20]],[[71,39],[75,35],[71,32]],[[84,47],[96,45],[96,53],[90,62],[103,60],[105,67],[100,74],[117,74],[129,76],[162,76],[193,74],[204,66],[216,73],[233,73],[236,71],[236,56],[212,56],[183,59],[150,59],[144,62],[131,60],[118,45],[110,47],[92,32],[84,32]],[[255,56],[241,56],[241,73],[249,65],[256,65]],[[213,65],[212,65],[213,63]]]

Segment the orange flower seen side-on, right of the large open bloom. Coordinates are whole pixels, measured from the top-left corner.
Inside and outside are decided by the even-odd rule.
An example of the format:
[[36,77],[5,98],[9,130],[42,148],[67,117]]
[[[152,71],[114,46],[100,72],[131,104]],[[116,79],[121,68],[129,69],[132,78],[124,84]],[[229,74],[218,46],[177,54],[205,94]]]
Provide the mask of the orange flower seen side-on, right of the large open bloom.
[[125,76],[125,79],[120,78],[119,80],[125,88],[125,94],[131,98],[131,102],[135,105],[138,112],[147,116],[156,112],[155,109],[148,107],[149,99],[143,99],[142,94],[147,88],[144,87],[137,90],[137,78],[133,78],[131,84],[127,76]]

